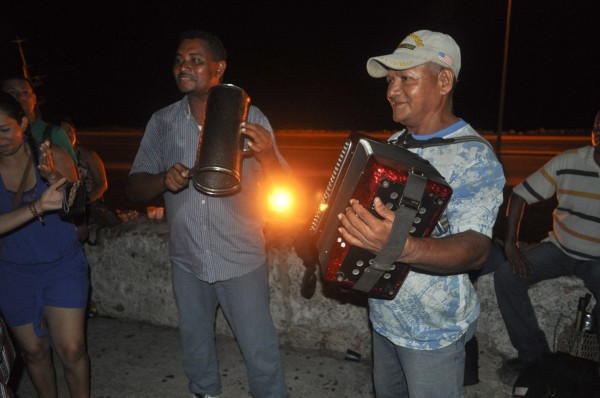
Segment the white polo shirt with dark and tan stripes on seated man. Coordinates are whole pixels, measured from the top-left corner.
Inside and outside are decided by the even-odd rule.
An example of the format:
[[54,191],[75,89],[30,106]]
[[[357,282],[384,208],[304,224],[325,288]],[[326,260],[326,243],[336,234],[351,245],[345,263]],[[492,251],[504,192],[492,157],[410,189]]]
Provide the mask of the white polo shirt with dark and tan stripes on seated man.
[[565,151],[514,188],[528,204],[556,194],[552,231],[545,241],[580,260],[600,260],[600,166],[594,147]]

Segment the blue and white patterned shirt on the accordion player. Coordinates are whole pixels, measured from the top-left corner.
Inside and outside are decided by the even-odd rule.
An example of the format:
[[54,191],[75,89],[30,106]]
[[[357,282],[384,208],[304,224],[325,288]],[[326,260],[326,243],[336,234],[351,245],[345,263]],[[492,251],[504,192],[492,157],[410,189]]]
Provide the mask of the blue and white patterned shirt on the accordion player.
[[[394,134],[394,140],[400,133]],[[427,136],[456,138],[478,135],[460,120]],[[473,230],[489,237],[503,201],[502,167],[492,149],[481,142],[411,149],[427,159],[453,189],[446,207],[447,236]],[[369,299],[373,329],[402,347],[433,350],[457,341],[479,316],[479,300],[468,274],[428,275],[409,272],[393,300]]]

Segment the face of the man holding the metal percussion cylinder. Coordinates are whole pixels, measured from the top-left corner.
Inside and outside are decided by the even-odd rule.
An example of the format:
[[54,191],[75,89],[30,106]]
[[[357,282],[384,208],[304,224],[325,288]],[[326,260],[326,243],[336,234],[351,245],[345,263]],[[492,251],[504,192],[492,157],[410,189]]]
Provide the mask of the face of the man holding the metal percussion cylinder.
[[213,59],[204,40],[184,40],[177,48],[173,75],[179,91],[204,96],[211,87],[219,84],[225,66],[225,61]]

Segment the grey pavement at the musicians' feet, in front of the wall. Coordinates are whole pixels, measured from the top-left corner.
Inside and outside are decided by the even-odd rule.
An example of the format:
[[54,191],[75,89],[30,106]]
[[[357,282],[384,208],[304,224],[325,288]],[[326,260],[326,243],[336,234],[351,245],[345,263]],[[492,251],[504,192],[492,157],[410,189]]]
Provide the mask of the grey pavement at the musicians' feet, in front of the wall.
[[[104,317],[88,322],[92,398],[189,397],[176,329]],[[514,377],[498,373],[500,356],[479,343],[478,384],[463,398],[508,398]],[[249,397],[244,362],[235,340],[217,338],[224,398]],[[281,347],[290,398],[372,398],[370,356],[360,361],[344,353]],[[59,396],[68,397],[60,363],[55,360]],[[432,375],[433,377],[433,375]],[[22,374],[18,398],[36,396],[27,374]]]

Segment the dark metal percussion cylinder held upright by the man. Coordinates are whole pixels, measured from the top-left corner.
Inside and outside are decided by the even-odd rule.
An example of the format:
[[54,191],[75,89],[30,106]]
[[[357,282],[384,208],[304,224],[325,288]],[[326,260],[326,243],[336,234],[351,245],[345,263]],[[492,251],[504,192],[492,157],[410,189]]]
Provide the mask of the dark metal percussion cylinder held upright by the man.
[[244,137],[239,127],[249,106],[250,97],[232,84],[219,84],[208,92],[192,176],[198,191],[224,196],[240,190]]

